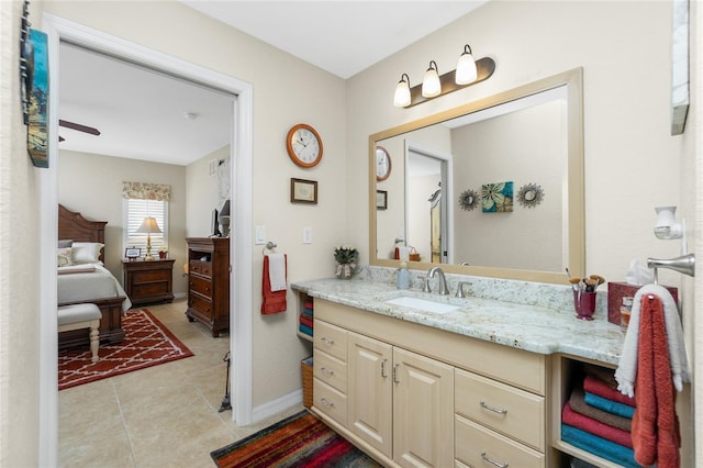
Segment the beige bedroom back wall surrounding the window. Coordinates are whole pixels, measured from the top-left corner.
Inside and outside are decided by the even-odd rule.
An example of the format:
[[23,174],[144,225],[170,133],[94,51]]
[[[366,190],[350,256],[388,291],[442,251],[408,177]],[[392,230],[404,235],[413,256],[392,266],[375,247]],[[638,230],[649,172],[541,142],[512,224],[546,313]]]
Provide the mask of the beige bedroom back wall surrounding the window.
[[[186,261],[186,168],[171,164],[59,153],[58,201],[89,220],[107,221],[105,267],[122,281],[123,203],[122,182],[153,182],[171,186],[168,203],[168,257],[174,258],[174,293],[185,296],[186,280],[179,265]],[[97,197],[90,194],[99,193]]]

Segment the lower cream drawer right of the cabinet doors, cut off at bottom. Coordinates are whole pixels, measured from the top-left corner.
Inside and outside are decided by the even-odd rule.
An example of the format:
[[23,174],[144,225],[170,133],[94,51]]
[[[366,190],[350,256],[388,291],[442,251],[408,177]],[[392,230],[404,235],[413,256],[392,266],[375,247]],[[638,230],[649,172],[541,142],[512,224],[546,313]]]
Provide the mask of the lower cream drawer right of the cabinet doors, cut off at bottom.
[[455,456],[457,466],[545,467],[544,454],[459,415],[455,419]]

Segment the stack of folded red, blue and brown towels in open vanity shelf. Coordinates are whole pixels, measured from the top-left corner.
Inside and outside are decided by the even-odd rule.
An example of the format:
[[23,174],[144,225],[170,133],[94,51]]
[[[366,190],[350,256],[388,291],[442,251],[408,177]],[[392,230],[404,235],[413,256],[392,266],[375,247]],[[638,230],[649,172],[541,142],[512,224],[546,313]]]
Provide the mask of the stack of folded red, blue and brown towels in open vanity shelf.
[[585,365],[561,411],[561,439],[624,467],[638,467],[632,439],[635,400],[617,391],[613,371]]

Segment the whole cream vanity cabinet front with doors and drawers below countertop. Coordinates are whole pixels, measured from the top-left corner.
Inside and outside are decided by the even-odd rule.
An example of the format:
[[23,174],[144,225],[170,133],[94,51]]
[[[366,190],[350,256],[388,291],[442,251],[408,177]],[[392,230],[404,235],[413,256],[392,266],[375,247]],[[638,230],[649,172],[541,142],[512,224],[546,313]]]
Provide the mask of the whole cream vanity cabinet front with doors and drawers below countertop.
[[[383,465],[556,466],[547,356],[321,299],[314,343],[313,411]],[[346,386],[321,374],[328,357]]]

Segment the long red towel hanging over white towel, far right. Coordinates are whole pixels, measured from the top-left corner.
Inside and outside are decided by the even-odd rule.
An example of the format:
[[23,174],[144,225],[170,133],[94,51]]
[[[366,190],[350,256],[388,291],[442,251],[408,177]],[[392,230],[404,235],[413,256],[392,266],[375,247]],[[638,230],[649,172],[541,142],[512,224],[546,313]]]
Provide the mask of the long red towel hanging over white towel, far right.
[[671,380],[669,345],[659,298],[641,298],[637,380],[633,415],[635,460],[643,466],[655,463],[658,468],[681,465],[681,435],[676,413],[676,392]]

